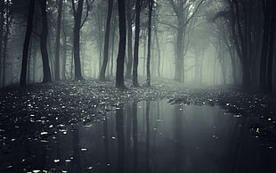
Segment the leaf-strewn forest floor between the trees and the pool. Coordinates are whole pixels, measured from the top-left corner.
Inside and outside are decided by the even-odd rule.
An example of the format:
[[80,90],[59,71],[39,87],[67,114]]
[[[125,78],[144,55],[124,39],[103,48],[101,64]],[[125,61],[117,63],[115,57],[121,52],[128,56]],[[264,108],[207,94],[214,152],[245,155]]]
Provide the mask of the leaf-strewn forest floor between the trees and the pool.
[[[61,81],[0,91],[0,151],[15,141],[45,137],[53,128],[104,119],[104,114],[124,103],[167,100],[169,103],[221,106],[235,116],[255,116],[251,128],[275,140],[276,97],[234,88],[188,88],[168,79],[153,79],[151,87],[120,90],[114,81]],[[22,135],[24,134],[24,135]]]

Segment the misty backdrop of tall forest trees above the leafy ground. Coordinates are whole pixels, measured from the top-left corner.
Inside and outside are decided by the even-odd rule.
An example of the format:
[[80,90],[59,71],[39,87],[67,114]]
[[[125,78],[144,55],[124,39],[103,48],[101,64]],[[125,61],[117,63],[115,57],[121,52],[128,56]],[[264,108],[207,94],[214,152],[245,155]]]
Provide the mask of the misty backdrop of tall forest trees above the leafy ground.
[[173,78],[272,93],[275,9],[273,0],[1,0],[0,86]]

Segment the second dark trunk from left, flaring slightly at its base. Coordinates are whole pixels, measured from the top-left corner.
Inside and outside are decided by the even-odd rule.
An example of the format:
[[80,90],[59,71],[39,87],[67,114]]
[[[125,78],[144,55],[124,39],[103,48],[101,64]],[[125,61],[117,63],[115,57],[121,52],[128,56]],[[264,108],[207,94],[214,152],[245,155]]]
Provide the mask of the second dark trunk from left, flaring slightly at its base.
[[46,4],[47,0],[41,0],[40,9],[42,13],[42,32],[40,36],[40,49],[43,62],[43,83],[52,81],[51,71],[49,66],[49,56],[47,51],[47,37],[48,37],[48,21],[47,21],[47,12]]

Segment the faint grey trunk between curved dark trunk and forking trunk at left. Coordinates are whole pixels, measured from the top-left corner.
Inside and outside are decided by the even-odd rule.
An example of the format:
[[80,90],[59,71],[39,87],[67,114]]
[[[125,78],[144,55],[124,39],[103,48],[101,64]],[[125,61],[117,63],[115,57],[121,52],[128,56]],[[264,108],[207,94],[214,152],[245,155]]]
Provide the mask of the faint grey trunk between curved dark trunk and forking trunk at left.
[[58,22],[57,22],[57,33],[55,39],[55,66],[54,74],[55,80],[60,80],[60,46],[61,46],[61,12],[62,12],[63,0],[59,0],[58,7]]

